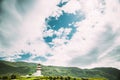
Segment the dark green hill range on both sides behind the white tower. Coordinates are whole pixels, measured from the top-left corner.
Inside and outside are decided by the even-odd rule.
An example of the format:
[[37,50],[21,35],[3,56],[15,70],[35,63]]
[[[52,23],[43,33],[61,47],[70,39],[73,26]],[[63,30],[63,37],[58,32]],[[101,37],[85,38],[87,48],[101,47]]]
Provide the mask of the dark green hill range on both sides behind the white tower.
[[[35,70],[35,63],[0,61],[0,75],[12,73],[27,75],[35,72]],[[77,67],[42,65],[42,74],[45,76],[103,77],[109,80],[120,80],[120,70],[116,68],[80,69]]]

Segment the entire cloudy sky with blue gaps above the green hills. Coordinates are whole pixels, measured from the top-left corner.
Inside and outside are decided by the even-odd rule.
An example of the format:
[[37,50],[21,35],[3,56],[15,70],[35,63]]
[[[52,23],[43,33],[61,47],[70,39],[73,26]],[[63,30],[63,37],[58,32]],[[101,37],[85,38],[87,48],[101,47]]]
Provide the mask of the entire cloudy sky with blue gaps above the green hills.
[[0,0],[0,60],[120,69],[120,0]]

